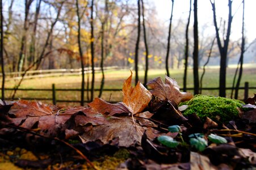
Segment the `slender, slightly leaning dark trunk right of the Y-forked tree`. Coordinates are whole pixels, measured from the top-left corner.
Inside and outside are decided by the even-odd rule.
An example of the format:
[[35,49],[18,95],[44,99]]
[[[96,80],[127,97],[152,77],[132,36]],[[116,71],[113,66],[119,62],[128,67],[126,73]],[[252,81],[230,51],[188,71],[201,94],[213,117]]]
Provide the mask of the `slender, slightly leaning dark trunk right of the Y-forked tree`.
[[241,44],[241,56],[240,56],[240,70],[237,78],[236,90],[234,91],[234,99],[238,98],[239,86],[242,78],[243,63],[244,63],[244,52],[245,52],[245,0],[243,3],[243,14],[242,14],[242,44]]

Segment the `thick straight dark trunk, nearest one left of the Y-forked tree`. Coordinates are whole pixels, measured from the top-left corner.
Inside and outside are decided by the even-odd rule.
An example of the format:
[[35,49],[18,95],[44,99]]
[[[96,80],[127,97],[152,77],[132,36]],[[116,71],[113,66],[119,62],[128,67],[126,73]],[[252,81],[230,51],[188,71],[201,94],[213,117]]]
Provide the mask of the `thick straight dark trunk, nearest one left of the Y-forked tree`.
[[198,0],[194,1],[194,52],[193,52],[193,73],[194,73],[194,94],[199,94],[198,74]]

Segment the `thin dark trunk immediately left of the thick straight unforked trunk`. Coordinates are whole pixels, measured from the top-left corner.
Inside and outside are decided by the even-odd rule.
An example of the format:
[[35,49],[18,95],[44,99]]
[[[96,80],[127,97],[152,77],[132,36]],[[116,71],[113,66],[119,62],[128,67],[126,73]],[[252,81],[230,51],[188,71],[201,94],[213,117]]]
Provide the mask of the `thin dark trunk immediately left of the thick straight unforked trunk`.
[[191,0],[190,0],[190,12],[187,19],[186,27],[186,46],[185,46],[185,63],[184,63],[184,77],[183,77],[183,91],[187,91],[187,65],[188,65],[188,28],[190,26],[190,15],[191,15]]

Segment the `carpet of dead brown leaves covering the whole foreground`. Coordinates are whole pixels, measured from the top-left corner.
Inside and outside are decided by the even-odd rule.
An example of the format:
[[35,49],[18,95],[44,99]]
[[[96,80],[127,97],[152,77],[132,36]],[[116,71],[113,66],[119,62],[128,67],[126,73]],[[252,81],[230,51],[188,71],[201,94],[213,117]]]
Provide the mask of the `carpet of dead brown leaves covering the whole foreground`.
[[[1,103],[1,162],[36,169],[255,168],[255,96],[238,109],[238,118],[217,124],[196,112],[183,116],[186,107],[180,111],[178,106],[193,96],[181,92],[174,79],[156,78],[147,86],[150,90],[140,82],[132,87],[131,73],[123,84],[123,101],[115,104],[100,98],[88,107]],[[168,131],[169,126],[179,127],[179,132]],[[190,145],[191,136],[192,141],[204,141],[204,147]],[[175,145],[162,145],[162,137]],[[220,139],[226,143],[213,143]],[[32,151],[37,159],[21,159],[17,148]],[[120,150],[128,155],[115,158]],[[113,165],[103,165],[106,159]]]

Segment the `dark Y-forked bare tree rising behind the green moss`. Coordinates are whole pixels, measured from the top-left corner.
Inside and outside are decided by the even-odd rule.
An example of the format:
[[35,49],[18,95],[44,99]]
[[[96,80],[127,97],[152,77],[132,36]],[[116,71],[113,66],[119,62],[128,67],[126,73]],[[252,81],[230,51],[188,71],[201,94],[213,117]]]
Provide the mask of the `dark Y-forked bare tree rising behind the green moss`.
[[219,96],[225,97],[226,96],[226,58],[228,53],[228,45],[229,45],[229,37],[231,32],[231,24],[232,24],[232,0],[228,0],[228,7],[229,7],[229,14],[228,14],[228,28],[226,31],[226,37],[224,38],[224,45],[221,43],[220,40],[220,33],[219,27],[217,26],[217,19],[216,19],[216,8],[215,8],[215,0],[210,0],[212,4],[212,11],[213,11],[213,23],[215,25],[216,31],[216,39],[217,45],[220,51],[220,79],[219,79]]

